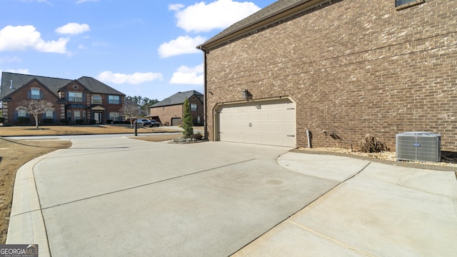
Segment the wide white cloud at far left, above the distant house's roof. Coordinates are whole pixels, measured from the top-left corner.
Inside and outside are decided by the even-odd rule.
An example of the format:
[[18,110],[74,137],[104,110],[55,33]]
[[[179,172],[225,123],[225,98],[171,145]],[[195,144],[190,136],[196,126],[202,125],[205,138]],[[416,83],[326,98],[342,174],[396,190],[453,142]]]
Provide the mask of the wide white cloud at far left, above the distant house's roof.
[[34,26],[6,26],[0,30],[0,51],[26,51],[34,49],[46,53],[66,54],[69,39],[44,41]]

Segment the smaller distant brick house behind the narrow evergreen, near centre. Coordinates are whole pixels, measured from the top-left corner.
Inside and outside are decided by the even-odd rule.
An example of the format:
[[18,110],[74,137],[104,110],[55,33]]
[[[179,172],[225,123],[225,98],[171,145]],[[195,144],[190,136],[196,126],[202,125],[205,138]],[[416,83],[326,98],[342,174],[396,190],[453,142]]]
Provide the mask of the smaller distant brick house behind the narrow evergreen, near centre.
[[194,125],[203,124],[203,94],[191,90],[179,92],[151,106],[151,119],[164,125],[181,126],[184,113],[184,101],[189,99]]

